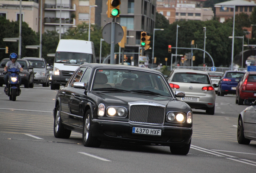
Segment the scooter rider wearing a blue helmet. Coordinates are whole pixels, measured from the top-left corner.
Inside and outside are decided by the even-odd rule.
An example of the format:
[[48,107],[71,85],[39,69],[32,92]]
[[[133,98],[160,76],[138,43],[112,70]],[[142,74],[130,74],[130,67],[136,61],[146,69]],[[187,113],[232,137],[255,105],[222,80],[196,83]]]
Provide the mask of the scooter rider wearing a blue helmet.
[[[17,69],[20,69],[20,71],[23,71],[21,64],[19,62],[16,62],[16,60],[18,58],[16,53],[11,53],[9,58],[10,58],[10,60],[6,63],[6,65],[4,67],[4,71],[7,71],[10,68],[17,68]],[[9,73],[6,73],[6,75],[4,76],[4,83],[6,85],[4,90],[8,89],[8,78],[9,78]],[[19,86],[21,86],[21,76],[20,75],[19,75]]]

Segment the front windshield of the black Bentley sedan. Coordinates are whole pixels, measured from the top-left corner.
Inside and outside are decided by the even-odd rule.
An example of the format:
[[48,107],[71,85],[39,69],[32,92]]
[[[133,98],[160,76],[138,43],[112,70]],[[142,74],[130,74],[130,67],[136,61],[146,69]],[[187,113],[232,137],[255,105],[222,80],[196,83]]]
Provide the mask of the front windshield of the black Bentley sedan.
[[113,91],[114,88],[136,93],[149,91],[147,93],[172,97],[167,83],[159,74],[126,69],[98,69],[94,75],[95,91]]

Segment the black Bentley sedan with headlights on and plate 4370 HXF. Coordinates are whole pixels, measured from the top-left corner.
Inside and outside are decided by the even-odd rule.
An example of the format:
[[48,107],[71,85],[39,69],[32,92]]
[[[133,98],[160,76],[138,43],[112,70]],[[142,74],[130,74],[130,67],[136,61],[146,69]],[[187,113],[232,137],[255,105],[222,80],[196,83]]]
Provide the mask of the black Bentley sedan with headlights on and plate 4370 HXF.
[[83,134],[83,145],[101,141],[169,146],[186,155],[192,137],[192,110],[176,97],[157,70],[124,65],[83,64],[56,95],[54,136]]

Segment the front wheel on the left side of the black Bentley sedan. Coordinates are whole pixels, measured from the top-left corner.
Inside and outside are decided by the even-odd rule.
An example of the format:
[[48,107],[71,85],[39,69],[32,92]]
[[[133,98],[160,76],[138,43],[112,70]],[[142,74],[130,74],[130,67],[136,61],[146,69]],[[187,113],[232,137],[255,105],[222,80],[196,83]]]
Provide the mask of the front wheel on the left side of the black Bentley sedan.
[[83,145],[85,147],[99,147],[101,141],[91,134],[91,111],[88,110],[85,113],[85,118],[83,121]]

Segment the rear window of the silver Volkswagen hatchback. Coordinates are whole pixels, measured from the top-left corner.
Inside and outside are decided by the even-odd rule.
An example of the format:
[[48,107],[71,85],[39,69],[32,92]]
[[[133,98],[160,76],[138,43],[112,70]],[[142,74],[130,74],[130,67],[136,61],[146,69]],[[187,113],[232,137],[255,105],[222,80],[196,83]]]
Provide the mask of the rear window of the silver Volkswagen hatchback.
[[174,74],[172,81],[184,83],[211,84],[207,74],[198,74],[192,72],[176,73]]

